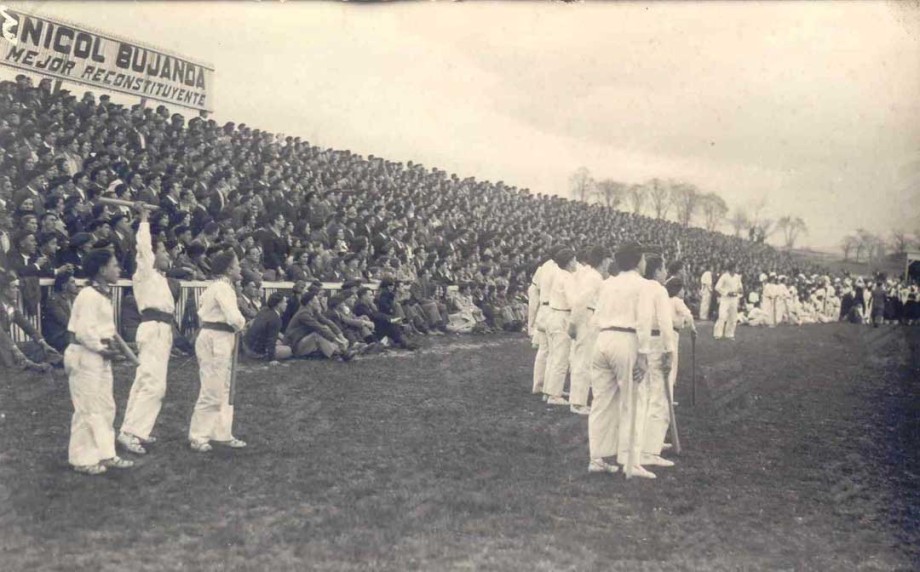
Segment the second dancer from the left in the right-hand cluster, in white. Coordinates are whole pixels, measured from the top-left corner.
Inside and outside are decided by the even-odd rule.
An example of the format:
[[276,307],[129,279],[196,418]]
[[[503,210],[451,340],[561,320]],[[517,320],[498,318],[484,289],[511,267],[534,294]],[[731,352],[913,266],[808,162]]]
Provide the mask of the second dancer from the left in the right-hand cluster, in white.
[[565,376],[569,372],[569,355],[572,339],[569,337],[569,318],[572,315],[572,302],[576,297],[575,251],[563,248],[553,257],[556,277],[549,297],[549,313],[546,317],[546,335],[549,339],[549,356],[546,363],[546,377],[543,393],[550,405],[568,405],[562,396],[565,389]]

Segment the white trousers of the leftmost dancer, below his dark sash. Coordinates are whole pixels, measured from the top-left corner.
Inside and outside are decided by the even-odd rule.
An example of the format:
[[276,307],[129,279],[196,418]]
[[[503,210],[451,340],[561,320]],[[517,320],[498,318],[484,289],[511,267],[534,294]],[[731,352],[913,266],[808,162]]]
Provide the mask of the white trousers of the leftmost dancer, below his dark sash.
[[74,410],[68,461],[82,466],[111,459],[115,456],[112,363],[83,346],[70,344],[64,351],[64,371]]

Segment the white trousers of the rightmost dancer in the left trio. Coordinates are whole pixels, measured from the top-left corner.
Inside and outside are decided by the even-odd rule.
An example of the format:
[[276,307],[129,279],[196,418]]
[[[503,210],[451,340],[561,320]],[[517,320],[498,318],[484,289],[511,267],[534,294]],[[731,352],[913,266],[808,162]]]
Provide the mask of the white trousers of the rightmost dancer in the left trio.
[[229,441],[233,438],[233,406],[230,397],[230,366],[233,338],[229,332],[201,330],[195,341],[201,390],[192,413],[188,438],[192,441]]

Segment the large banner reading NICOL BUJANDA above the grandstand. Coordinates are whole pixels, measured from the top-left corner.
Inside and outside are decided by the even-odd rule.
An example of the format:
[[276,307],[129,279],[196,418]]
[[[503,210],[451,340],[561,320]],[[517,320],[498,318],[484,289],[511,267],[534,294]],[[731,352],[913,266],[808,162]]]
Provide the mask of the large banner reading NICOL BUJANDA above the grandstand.
[[213,110],[213,66],[3,6],[0,64],[169,104]]

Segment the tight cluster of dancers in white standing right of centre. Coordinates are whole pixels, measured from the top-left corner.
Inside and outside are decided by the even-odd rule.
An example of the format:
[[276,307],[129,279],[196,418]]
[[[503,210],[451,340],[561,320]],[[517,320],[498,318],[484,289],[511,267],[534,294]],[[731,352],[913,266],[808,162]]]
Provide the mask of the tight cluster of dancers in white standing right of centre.
[[[537,349],[533,392],[588,416],[591,473],[655,478],[673,423],[679,331],[696,335],[684,281],[658,249],[555,247],[530,285],[528,332]],[[569,394],[564,394],[566,376]],[[589,394],[593,395],[588,406]]]

